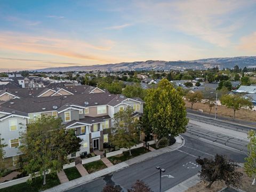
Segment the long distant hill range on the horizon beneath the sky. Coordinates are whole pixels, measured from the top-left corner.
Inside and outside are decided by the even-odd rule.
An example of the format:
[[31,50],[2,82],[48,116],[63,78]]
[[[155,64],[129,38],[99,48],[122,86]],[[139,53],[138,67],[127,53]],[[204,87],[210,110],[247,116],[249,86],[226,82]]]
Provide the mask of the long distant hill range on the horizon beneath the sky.
[[70,66],[37,69],[39,72],[66,72],[66,71],[122,71],[122,70],[170,70],[170,69],[207,69],[217,66],[222,68],[239,67],[256,68],[256,56],[234,58],[209,58],[193,61],[135,61],[116,64],[93,66]]

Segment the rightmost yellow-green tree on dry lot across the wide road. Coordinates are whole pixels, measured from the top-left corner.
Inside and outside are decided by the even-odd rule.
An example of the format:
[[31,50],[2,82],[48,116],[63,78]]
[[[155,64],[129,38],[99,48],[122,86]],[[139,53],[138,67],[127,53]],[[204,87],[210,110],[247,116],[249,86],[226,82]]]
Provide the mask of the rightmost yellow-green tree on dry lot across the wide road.
[[225,105],[227,108],[234,110],[233,118],[235,118],[236,111],[244,108],[252,109],[252,102],[250,99],[245,99],[242,95],[239,94],[226,94],[222,95],[220,98],[221,105]]

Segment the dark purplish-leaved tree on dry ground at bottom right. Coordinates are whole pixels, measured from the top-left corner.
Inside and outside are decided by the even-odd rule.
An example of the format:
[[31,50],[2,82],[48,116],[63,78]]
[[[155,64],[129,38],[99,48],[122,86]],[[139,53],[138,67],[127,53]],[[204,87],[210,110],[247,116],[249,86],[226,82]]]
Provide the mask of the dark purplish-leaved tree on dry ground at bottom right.
[[228,187],[237,188],[241,185],[243,173],[236,171],[237,165],[222,155],[216,154],[214,159],[198,157],[196,163],[202,167],[199,177],[209,183],[207,188],[210,188],[215,181],[224,181]]

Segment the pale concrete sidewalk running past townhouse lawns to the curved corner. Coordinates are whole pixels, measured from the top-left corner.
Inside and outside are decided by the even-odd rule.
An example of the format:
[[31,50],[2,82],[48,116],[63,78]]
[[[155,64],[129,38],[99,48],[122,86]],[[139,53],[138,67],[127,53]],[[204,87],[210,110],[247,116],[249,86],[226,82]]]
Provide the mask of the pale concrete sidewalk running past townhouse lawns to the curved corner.
[[109,173],[119,171],[119,170],[124,169],[125,167],[133,165],[135,163],[139,163],[139,162],[145,161],[149,158],[153,158],[153,157],[156,157],[158,155],[161,155],[161,154],[179,149],[180,147],[185,145],[185,140],[181,136],[175,137],[175,139],[176,139],[176,142],[172,146],[168,146],[168,147],[164,147],[164,148],[157,149],[157,150],[154,150],[154,151],[150,151],[146,154],[142,154],[140,156],[134,157],[134,158],[129,159],[125,162],[118,163],[116,165],[107,167],[106,169],[91,173],[89,175],[85,175],[81,178],[74,179],[72,181],[63,183],[61,185],[55,186],[55,187],[50,188],[50,189],[47,189],[47,190],[45,190],[45,192],[62,192],[62,191],[65,191],[65,190],[68,190],[68,189],[71,189],[71,188],[81,186],[81,185],[83,185],[87,182],[90,182],[94,179],[100,178],[100,177],[102,177],[104,175],[107,175]]

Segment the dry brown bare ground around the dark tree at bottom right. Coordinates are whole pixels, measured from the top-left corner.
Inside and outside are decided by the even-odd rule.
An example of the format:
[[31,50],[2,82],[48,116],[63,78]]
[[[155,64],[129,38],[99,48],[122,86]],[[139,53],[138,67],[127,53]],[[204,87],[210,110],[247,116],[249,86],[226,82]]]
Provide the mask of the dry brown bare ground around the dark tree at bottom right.
[[[247,191],[247,192],[256,191],[256,186],[252,186],[253,179],[249,178],[246,175],[246,173],[244,173],[244,169],[239,168],[239,169],[237,169],[237,171],[241,171],[244,174],[242,177],[242,186],[239,188],[244,191]],[[206,187],[205,183],[201,181],[201,182],[197,183],[195,186],[187,189],[186,192],[217,192],[226,186],[223,182],[214,182],[210,189],[205,188],[205,187]]]

